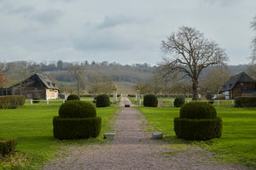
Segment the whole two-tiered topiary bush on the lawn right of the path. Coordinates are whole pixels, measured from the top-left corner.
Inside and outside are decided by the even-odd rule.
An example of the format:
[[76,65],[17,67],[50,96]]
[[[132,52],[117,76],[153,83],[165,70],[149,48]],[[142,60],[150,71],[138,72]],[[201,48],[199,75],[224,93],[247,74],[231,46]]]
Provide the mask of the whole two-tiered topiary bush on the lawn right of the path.
[[208,102],[190,102],[181,107],[180,117],[174,118],[174,131],[182,139],[220,138],[222,119]]

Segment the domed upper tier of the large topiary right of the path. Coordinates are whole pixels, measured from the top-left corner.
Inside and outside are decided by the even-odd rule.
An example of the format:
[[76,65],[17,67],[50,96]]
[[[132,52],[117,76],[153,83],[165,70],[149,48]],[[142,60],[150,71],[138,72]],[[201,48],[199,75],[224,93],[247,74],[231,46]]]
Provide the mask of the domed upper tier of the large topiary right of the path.
[[216,116],[214,106],[208,102],[189,102],[180,109],[180,118],[211,119],[216,118]]

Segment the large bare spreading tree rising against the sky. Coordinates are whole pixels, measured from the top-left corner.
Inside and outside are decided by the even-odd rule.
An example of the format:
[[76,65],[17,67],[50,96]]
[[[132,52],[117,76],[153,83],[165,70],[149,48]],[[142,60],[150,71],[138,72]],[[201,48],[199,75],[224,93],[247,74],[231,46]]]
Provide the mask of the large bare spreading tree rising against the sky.
[[224,49],[219,48],[218,43],[207,40],[203,33],[187,26],[180,27],[177,33],[162,41],[161,48],[164,53],[171,54],[171,58],[163,58],[159,64],[163,77],[178,73],[190,77],[194,100],[198,99],[201,71],[227,60]]

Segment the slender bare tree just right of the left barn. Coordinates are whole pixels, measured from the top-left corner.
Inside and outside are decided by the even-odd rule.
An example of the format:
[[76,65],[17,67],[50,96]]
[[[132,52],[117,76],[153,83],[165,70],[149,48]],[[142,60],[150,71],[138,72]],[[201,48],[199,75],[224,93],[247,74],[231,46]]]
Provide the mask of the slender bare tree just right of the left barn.
[[68,72],[75,78],[77,82],[78,94],[80,95],[80,90],[84,82],[85,67],[82,65],[73,65],[69,68]]

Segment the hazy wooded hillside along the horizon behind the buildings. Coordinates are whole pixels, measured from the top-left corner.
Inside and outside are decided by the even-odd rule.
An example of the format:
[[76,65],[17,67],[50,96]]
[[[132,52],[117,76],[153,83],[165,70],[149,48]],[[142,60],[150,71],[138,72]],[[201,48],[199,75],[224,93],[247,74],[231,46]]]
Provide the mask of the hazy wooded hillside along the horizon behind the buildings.
[[[110,88],[114,82],[131,82],[138,84],[141,82],[149,82],[152,85],[152,79],[156,66],[144,64],[121,65],[119,63],[108,63],[108,61],[95,62],[66,62],[61,59],[57,62],[41,62],[34,61],[12,61],[0,62],[1,68],[6,70],[9,82],[6,87],[30,77],[32,74],[39,73],[49,77],[50,80],[56,82],[61,91],[75,91],[76,80],[70,69],[79,65],[84,67],[84,79],[81,88],[86,91],[96,91],[95,88]],[[247,65],[227,65],[230,75],[235,75],[241,71],[247,71]],[[207,68],[208,69],[208,68]],[[211,69],[211,67],[209,68]],[[207,72],[207,70],[206,70]],[[204,74],[203,74],[204,75]],[[102,85],[97,85],[102,83]],[[107,87],[108,84],[108,87]],[[178,87],[181,87],[180,85]],[[73,88],[73,89],[71,89]],[[124,87],[125,88],[125,87]],[[128,87],[127,87],[128,88]],[[130,87],[131,88],[131,87]],[[108,91],[107,89],[105,90]],[[103,92],[102,92],[103,93]]]

